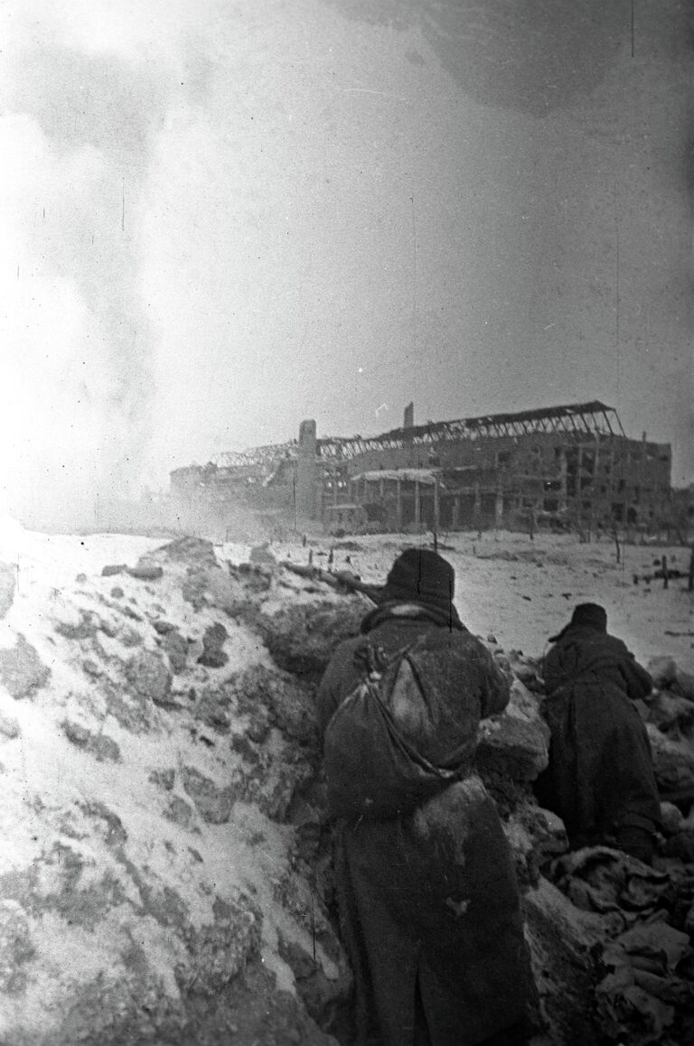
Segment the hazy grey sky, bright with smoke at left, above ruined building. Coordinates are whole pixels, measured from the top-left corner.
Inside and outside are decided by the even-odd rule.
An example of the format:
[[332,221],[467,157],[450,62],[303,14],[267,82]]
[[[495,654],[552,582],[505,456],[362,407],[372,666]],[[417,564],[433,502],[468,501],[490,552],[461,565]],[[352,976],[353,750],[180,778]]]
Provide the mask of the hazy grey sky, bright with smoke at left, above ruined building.
[[694,478],[679,0],[0,0],[0,480],[600,399]]

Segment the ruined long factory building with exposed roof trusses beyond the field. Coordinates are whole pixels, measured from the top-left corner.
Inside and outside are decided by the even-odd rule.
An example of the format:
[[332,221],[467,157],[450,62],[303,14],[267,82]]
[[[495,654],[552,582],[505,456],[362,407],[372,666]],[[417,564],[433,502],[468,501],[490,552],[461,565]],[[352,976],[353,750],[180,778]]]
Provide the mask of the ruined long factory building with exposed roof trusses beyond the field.
[[246,502],[329,531],[559,526],[653,531],[671,496],[671,448],[628,438],[603,403],[404,425],[220,455],[172,473],[182,506]]

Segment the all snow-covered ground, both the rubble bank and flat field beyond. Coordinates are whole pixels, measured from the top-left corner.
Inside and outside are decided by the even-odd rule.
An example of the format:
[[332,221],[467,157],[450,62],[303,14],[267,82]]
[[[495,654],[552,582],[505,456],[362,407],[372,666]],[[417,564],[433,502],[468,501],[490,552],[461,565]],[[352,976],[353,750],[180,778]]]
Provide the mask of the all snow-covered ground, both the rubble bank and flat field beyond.
[[[12,841],[0,859],[0,943],[7,935],[19,941],[4,974],[0,963],[0,991],[9,984],[15,992],[5,991],[9,1001],[0,1007],[2,1041],[3,1033],[23,1029],[29,1038],[22,1046],[44,1042],[35,1032],[50,1030],[59,1017],[71,1036],[72,1009],[58,1015],[67,1001],[76,1007],[80,1028],[96,1034],[98,1015],[115,1006],[111,996],[102,998],[100,981],[90,980],[100,978],[100,971],[111,971],[112,992],[130,985],[128,999],[141,1008],[142,977],[132,965],[140,952],[127,947],[131,937],[149,963],[142,992],[165,1002],[174,1023],[183,1017],[176,1009],[173,972],[193,969],[191,939],[201,941],[195,962],[211,986],[237,983],[233,962],[241,949],[239,962],[260,957],[262,969],[276,978],[272,985],[292,992],[295,971],[287,947],[299,959],[317,955],[331,992],[340,982],[339,946],[314,907],[313,887],[295,872],[295,825],[267,806],[277,796],[289,801],[310,769],[296,761],[303,756],[295,743],[270,728],[274,721],[263,720],[263,702],[272,692],[268,680],[288,687],[288,700],[304,691],[286,672],[277,675],[252,613],[243,615],[252,582],[238,578],[256,575],[219,570],[214,561],[209,568],[209,546],[200,561],[195,547],[181,558],[148,555],[164,544],[161,538],[113,533],[35,533],[0,519],[0,828]],[[382,584],[399,552],[417,544],[407,535],[309,536],[306,544],[273,543],[267,551],[276,561],[311,560],[328,569],[332,548],[333,570]],[[253,558],[249,544],[218,544],[215,550],[222,566]],[[610,631],[642,663],[667,654],[694,673],[694,637],[686,635],[694,631],[694,598],[687,579],[672,579],[667,590],[663,581],[633,584],[633,575],[652,573],[663,554],[685,572],[688,549],[627,546],[618,564],[611,543],[579,544],[555,535],[531,541],[501,532],[446,535],[440,551],[455,568],[463,620],[484,638],[494,636],[507,652],[541,655],[576,604],[590,600],[605,606]],[[163,566],[152,581],[137,571],[103,574],[106,566],[135,567],[141,556]],[[258,596],[266,619],[326,600],[340,622],[350,606],[361,613],[331,588],[317,590],[311,578],[277,571],[266,581]],[[229,610],[234,606],[239,613]],[[199,655],[205,636],[221,622],[227,660],[208,667]],[[300,614],[292,629],[296,622],[300,627]],[[178,646],[171,645],[172,634]],[[181,642],[183,664],[174,667]],[[211,714],[220,710],[221,719]],[[243,791],[227,801],[232,786]],[[261,793],[267,809],[259,804]],[[216,914],[227,909],[241,920],[228,933]],[[170,925],[170,910],[180,915],[180,926]],[[228,940],[220,954],[228,961],[218,970],[217,946],[206,950],[205,935],[214,942],[224,933]],[[332,940],[331,947],[321,940]],[[87,980],[85,995],[80,985]],[[246,1014],[253,1020],[234,1038],[240,1046],[261,1041],[253,1022],[274,998],[272,985],[259,997],[256,1013],[251,1006]],[[278,1041],[326,1041],[315,1025],[307,1038],[309,1024],[294,1010],[283,1013],[299,1039]],[[222,1041],[215,1029],[210,1034],[200,1040],[202,1046]]]

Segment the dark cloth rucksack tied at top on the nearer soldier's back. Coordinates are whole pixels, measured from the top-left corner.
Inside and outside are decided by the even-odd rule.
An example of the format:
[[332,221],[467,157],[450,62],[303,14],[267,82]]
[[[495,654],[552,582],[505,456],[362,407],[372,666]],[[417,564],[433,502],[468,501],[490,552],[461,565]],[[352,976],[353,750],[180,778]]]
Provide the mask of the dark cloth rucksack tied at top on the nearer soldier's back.
[[[453,659],[443,677],[441,665],[432,665],[442,657]],[[365,643],[355,664],[361,679],[324,735],[331,816],[383,820],[408,814],[471,767],[477,718],[451,711],[450,681],[464,670],[463,657],[420,637],[390,656]],[[436,685],[442,678],[446,685]]]

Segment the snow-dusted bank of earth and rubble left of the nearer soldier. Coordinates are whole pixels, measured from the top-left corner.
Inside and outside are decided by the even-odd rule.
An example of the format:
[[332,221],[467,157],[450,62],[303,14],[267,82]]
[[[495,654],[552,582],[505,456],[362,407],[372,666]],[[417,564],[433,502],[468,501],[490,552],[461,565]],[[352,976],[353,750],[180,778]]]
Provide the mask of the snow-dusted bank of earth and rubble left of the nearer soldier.
[[[271,674],[262,641],[211,602],[193,606],[182,594],[193,561],[164,556],[165,569],[158,568],[153,583],[125,571],[103,574],[107,566],[135,567],[163,544],[160,538],[50,536],[0,523],[0,835],[6,843],[0,951],[9,949],[0,961],[3,1043],[43,1043],[45,1032],[45,1041],[67,1044],[82,1038],[70,1038],[71,1021],[95,1041],[112,1041],[98,1039],[98,1014],[115,1019],[113,993],[133,977],[137,986],[128,990],[128,1004],[135,999],[136,1008],[147,1010],[147,994],[156,996],[178,1027],[185,1016],[180,985],[199,976],[202,955],[216,971],[215,985],[205,991],[228,983],[229,963],[241,969],[252,956],[274,974],[276,988],[291,991],[281,935],[287,947],[307,954],[317,949],[321,969],[339,976],[335,959],[292,915],[309,910],[311,901],[292,874],[289,828],[250,801],[254,780],[246,781],[243,795],[233,783],[243,761],[233,738],[243,735],[243,747],[246,720],[262,710],[251,707],[227,722],[237,692],[229,681],[251,667]],[[247,558],[241,548],[237,553]],[[212,573],[224,594],[228,574]],[[157,632],[154,621],[165,628]],[[214,626],[225,637],[226,660],[209,669],[198,657]],[[173,633],[185,663],[172,675],[160,643]],[[198,717],[205,702],[218,719]],[[270,764],[255,791],[274,789],[272,801],[282,802],[282,789],[291,795],[292,784],[278,781],[274,769],[297,779],[308,770],[287,755],[269,721],[255,727]],[[259,761],[249,775],[260,774]],[[311,917],[317,934],[324,919],[317,908]],[[131,938],[147,954],[147,971],[137,974]],[[138,992],[147,995],[141,1006]],[[259,1020],[264,1006],[259,999]],[[315,1026],[313,1038],[304,1038],[291,1009],[277,1019],[299,1022],[299,1039],[286,1041],[324,1040]],[[66,1038],[58,1036],[59,1026]],[[256,1039],[248,1030],[239,1043]]]

